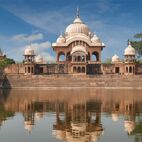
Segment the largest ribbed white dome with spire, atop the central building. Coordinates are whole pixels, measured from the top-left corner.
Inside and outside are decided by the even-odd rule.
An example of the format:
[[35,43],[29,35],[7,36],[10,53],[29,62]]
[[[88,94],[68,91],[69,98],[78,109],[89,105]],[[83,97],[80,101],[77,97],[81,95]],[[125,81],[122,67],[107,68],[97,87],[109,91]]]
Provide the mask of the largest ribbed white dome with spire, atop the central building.
[[79,17],[79,14],[77,14],[77,17],[75,18],[73,23],[70,24],[65,30],[66,36],[72,36],[73,34],[76,33],[82,33],[87,36],[89,35],[89,28],[86,24],[82,22],[82,20]]

